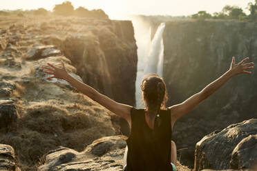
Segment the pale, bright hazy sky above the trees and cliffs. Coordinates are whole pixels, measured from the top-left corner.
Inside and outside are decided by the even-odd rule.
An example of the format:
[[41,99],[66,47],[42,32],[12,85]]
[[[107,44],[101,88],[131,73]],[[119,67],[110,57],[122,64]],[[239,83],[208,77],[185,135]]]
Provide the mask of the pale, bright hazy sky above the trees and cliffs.
[[[65,0],[0,0],[0,9],[37,9],[53,10],[55,4]],[[84,6],[89,10],[103,9],[111,19],[122,18],[126,14],[167,14],[190,15],[199,10],[220,12],[226,5],[239,6],[243,10],[247,3],[254,0],[70,0],[75,8]],[[246,10],[245,10],[246,11]]]

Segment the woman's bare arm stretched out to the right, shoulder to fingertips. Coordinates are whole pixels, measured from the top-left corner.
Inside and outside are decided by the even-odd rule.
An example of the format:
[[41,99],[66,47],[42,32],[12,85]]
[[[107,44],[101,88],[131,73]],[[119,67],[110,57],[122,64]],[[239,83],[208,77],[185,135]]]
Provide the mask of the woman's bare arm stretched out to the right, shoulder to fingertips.
[[193,108],[196,107],[199,103],[207,99],[213,92],[218,90],[223,84],[225,84],[231,77],[237,74],[251,74],[251,72],[247,71],[249,69],[254,68],[254,63],[245,63],[249,58],[245,58],[240,63],[235,63],[235,57],[232,58],[230,68],[225,74],[222,74],[221,77],[216,79],[215,81],[209,83],[202,91],[193,94],[193,96],[189,97],[186,101],[169,107],[171,109],[171,124],[174,124],[176,120],[182,117],[184,114],[187,114]]

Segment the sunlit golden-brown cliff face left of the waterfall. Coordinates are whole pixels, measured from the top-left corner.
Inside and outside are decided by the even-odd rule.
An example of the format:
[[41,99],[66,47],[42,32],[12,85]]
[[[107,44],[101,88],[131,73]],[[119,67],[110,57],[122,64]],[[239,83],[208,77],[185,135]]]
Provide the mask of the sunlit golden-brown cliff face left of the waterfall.
[[44,43],[59,46],[84,83],[115,101],[135,105],[137,46],[131,21],[69,19],[67,26],[57,23],[56,36],[46,37]]

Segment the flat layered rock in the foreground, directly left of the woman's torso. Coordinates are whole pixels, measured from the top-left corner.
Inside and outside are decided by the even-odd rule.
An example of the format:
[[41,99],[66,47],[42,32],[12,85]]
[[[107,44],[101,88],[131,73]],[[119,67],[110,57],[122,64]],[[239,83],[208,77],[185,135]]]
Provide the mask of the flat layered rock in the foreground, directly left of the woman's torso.
[[[60,147],[46,154],[39,171],[46,170],[109,170],[121,171],[126,141],[123,136],[103,137],[88,145],[83,152]],[[101,157],[99,157],[101,156]]]

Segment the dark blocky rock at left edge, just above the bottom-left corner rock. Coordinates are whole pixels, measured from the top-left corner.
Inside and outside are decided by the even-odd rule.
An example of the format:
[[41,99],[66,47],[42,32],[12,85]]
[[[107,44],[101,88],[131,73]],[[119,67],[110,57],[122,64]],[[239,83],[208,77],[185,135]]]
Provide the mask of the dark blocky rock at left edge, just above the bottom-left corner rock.
[[0,100],[0,129],[10,130],[17,129],[17,120],[19,114],[16,106],[11,100]]

